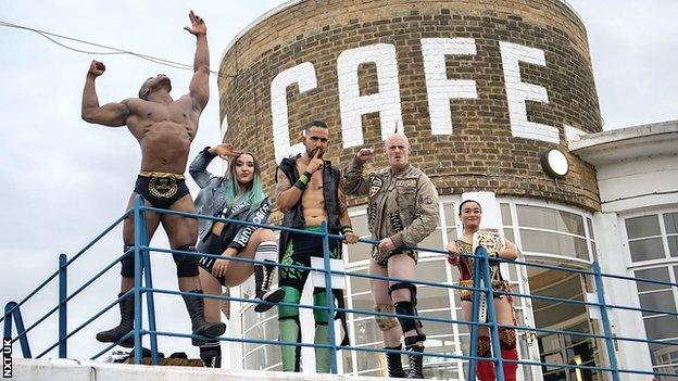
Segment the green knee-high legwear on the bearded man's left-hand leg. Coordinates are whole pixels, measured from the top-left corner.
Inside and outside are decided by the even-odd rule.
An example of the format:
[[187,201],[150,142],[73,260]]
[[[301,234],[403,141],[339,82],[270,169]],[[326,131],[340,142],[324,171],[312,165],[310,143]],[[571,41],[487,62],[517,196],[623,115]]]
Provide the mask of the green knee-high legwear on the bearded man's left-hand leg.
[[[292,287],[284,287],[285,303],[299,304],[301,292]],[[299,325],[299,307],[278,307],[279,340],[285,342],[301,343],[301,327]],[[284,371],[301,370],[301,346],[280,345]]]

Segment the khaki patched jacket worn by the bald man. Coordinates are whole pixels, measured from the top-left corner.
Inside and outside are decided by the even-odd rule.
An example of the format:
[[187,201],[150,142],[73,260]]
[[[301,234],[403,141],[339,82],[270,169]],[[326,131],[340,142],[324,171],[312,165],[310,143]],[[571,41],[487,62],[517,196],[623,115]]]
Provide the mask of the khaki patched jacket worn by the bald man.
[[[344,169],[346,191],[367,195],[367,224],[373,239],[390,237],[395,247],[416,246],[438,225],[438,191],[420,169],[409,165],[363,176],[364,163],[353,158]],[[360,232],[356,232],[360,234]]]

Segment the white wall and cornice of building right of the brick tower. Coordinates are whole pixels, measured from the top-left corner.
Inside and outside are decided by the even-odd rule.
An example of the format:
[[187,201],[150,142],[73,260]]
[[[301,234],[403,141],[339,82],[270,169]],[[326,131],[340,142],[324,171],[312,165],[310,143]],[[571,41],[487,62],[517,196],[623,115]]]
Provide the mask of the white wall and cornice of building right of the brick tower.
[[[593,217],[603,272],[633,277],[625,217],[678,205],[678,120],[591,134],[569,142],[570,151],[595,166],[602,213]],[[608,304],[640,307],[632,281],[605,279]],[[614,334],[645,339],[641,313],[612,309]],[[652,370],[645,343],[616,342],[620,369]],[[639,380],[638,374],[622,374]]]

